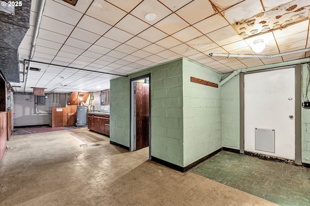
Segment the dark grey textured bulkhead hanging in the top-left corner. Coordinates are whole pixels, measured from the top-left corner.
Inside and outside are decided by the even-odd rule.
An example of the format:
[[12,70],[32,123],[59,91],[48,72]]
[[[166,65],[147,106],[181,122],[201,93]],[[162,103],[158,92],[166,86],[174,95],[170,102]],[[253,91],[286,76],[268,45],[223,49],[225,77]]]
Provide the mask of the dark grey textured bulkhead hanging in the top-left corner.
[[17,49],[29,29],[31,0],[22,0],[15,15],[0,11],[0,70],[8,82],[19,82]]

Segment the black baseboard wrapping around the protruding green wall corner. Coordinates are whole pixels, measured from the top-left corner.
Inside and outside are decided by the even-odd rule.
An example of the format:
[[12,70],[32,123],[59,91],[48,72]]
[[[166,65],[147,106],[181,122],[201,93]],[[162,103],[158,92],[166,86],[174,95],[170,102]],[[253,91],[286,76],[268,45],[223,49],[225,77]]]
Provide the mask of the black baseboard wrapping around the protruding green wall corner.
[[156,157],[153,157],[151,156],[151,160],[154,161],[154,162],[157,162],[157,163],[160,163],[162,165],[165,165],[167,167],[170,167],[172,169],[175,169],[175,170],[178,170],[180,172],[186,172],[187,170],[193,168],[194,166],[196,166],[197,164],[205,161],[206,159],[209,159],[210,157],[214,156],[215,154],[217,154],[218,152],[222,151],[222,148],[219,148],[217,149],[216,151],[204,156],[203,158],[191,163],[191,164],[188,164],[186,167],[181,167],[179,165],[176,165],[176,164],[173,164],[171,162],[167,162],[167,161],[164,161],[164,160],[161,160],[161,159],[158,159]]

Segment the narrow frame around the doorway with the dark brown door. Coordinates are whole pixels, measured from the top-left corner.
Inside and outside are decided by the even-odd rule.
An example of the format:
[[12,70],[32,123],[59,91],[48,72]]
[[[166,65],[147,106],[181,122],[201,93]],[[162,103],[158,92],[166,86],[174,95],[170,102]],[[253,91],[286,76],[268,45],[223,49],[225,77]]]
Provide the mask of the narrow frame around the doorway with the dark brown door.
[[134,151],[134,82],[140,79],[149,78],[149,158],[151,159],[151,74],[145,74],[130,79],[130,132],[129,132],[129,150]]

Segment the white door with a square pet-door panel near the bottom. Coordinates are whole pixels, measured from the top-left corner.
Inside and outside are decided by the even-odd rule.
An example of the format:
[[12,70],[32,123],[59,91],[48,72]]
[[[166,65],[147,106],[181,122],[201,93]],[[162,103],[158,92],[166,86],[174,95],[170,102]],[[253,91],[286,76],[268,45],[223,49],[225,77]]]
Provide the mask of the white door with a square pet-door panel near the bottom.
[[294,98],[294,68],[244,75],[245,151],[295,160]]

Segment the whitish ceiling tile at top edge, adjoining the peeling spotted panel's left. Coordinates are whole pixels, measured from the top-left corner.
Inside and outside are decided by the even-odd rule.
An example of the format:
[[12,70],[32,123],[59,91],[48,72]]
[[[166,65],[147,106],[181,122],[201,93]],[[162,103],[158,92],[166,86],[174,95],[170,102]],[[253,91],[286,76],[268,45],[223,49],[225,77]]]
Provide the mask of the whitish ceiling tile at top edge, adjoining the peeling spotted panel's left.
[[253,17],[263,12],[263,6],[260,0],[245,0],[233,7],[221,12],[221,14],[231,23],[236,23]]

